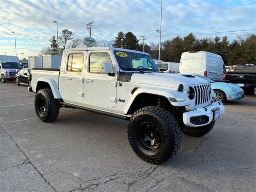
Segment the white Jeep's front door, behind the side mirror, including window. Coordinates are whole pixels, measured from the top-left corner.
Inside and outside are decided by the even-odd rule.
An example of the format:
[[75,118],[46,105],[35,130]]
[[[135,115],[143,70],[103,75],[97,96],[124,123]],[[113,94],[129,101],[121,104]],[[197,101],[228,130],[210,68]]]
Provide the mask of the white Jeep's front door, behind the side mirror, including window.
[[[112,63],[112,74],[109,76],[102,73],[103,62]],[[86,75],[84,78],[84,94],[90,104],[115,107],[117,72],[108,51],[92,52],[88,51],[86,61]]]

